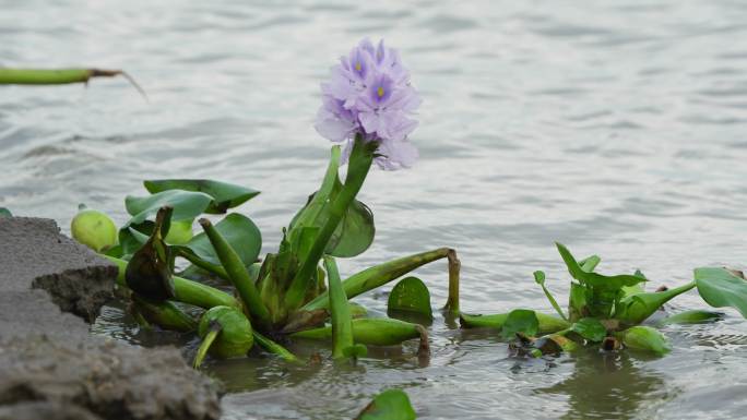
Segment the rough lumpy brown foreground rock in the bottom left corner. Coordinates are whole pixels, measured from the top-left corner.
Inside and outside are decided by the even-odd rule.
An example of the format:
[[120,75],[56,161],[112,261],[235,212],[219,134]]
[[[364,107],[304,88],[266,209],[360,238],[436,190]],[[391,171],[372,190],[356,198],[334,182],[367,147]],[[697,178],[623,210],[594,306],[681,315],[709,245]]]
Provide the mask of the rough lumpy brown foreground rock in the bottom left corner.
[[175,348],[143,349],[91,337],[35,336],[2,344],[0,407],[74,404],[103,419],[217,419],[215,385]]

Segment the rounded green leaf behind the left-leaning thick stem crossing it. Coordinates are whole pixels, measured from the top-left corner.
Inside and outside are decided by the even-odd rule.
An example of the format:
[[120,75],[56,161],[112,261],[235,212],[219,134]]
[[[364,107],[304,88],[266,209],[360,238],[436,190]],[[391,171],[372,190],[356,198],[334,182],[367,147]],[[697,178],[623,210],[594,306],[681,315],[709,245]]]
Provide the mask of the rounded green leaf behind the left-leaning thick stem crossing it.
[[[248,267],[257,261],[262,249],[262,233],[249,217],[232,213],[215,224],[215,229],[236,251],[245,266]],[[205,232],[200,232],[186,244],[175,248],[190,252],[210,264],[221,264],[221,259]]]

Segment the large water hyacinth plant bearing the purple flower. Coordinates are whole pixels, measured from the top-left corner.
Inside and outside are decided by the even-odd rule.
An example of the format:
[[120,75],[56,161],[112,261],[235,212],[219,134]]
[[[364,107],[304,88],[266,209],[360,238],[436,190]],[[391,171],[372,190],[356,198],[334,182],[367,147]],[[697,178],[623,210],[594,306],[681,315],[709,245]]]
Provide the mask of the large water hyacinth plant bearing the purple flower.
[[[262,237],[251,219],[228,213],[253,199],[252,189],[212,180],[147,180],[146,196],[124,201],[130,220],[116,240],[96,241],[92,224],[75,224],[73,236],[119,266],[119,286],[131,296],[133,315],[144,325],[197,329],[202,345],[194,365],[208,353],[245,357],[254,344],[296,360],[283,344],[324,339],[337,360],[366,355],[366,346],[391,346],[419,338],[423,325],[396,319],[367,319],[349,299],[381,287],[413,269],[447,259],[447,313],[459,312],[460,264],[441,248],[393,260],[342,279],[335,259],[354,257],[374,241],[374,215],[356,200],[374,164],[384,170],[407,168],[417,151],[407,136],[416,127],[420,98],[396,50],[363,40],[332,69],[322,84],[316,129],[334,143],[321,185],[296,213],[275,252],[260,259]],[[344,181],[340,169],[346,165]],[[79,217],[84,217],[82,214]],[[86,216],[88,217],[88,216]],[[199,218],[202,232],[192,226]],[[109,225],[107,225],[109,226]],[[114,228],[116,230],[116,228]],[[99,229],[100,230],[100,229]],[[110,229],[109,229],[110,230]],[[93,237],[93,239],[92,239]],[[189,266],[180,273],[176,267]],[[213,287],[203,279],[212,279]],[[431,317],[428,289],[408,277],[395,287],[390,313]],[[204,310],[190,319],[186,307]],[[398,312],[399,311],[399,312]]]

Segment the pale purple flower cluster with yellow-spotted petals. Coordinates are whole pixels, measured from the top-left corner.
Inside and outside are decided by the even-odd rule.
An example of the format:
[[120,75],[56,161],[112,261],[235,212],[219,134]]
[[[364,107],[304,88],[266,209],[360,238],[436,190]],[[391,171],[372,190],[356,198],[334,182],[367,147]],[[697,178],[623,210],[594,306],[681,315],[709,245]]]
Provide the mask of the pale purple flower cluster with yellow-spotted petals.
[[376,163],[382,169],[412,166],[417,149],[407,136],[417,127],[412,116],[422,99],[410,84],[410,73],[400,55],[383,40],[374,46],[361,40],[323,83],[322,106],[315,124],[322,136],[345,142],[347,156],[356,134],[377,142]]

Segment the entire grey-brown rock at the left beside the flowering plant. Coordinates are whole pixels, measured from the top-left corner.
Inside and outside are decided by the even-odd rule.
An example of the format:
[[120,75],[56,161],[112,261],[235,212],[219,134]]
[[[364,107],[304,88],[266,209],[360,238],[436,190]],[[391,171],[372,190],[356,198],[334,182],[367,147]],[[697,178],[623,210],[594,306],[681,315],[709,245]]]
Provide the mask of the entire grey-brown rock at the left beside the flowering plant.
[[88,334],[116,275],[52,220],[0,218],[0,420],[220,417],[178,349]]

